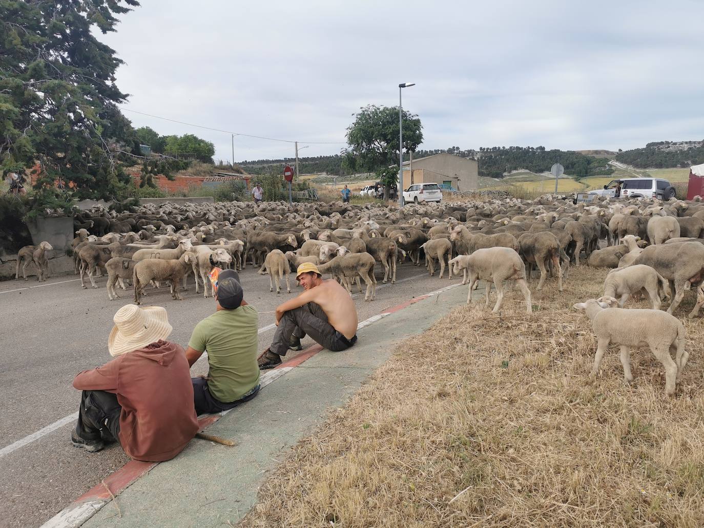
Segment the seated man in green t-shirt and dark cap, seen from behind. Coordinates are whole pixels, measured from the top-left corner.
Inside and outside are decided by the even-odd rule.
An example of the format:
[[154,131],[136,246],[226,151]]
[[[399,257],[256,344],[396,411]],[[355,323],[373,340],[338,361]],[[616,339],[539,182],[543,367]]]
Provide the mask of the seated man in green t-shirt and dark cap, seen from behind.
[[215,288],[215,313],[196,325],[186,349],[191,366],[208,351],[208,376],[191,380],[199,415],[232,409],[259,391],[259,314],[244,300],[237,272],[222,270]]

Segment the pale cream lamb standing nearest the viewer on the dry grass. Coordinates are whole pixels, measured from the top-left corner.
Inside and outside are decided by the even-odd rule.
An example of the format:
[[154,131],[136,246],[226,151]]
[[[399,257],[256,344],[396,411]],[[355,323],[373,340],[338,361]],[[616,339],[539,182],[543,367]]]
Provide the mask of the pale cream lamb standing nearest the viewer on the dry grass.
[[[600,303],[596,299],[577,303],[574,309],[586,313],[598,340],[592,376],[598,374],[606,348],[614,343],[621,346],[624,379],[631,384],[631,348],[648,346],[653,356],[665,367],[665,394],[674,396],[675,384],[679,382],[689,358],[689,353],[684,350],[684,326],[677,318],[660,310],[609,308],[607,303]],[[670,356],[672,351],[675,353],[674,361]]]

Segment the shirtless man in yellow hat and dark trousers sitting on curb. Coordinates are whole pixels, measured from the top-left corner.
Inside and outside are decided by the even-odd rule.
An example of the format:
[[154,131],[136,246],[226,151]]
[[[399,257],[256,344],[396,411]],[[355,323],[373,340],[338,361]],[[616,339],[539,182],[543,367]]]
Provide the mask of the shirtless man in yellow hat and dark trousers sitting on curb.
[[312,263],[298,266],[296,279],[305,291],[276,309],[278,328],[271,346],[257,360],[261,370],[279,365],[289,348],[301,350],[306,334],[334,352],[357,342],[357,310],[347,290],[332,279],[323,280]]

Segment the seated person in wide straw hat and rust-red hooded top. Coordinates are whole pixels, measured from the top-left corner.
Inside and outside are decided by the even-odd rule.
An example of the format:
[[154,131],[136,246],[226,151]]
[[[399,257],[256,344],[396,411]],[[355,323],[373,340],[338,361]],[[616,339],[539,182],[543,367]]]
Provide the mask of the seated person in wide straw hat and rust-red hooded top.
[[186,355],[165,341],[172,327],[161,306],[128,304],[113,321],[115,359],[73,379],[83,393],[71,441],[90,453],[120,441],[135,460],[170,460],[199,429]]

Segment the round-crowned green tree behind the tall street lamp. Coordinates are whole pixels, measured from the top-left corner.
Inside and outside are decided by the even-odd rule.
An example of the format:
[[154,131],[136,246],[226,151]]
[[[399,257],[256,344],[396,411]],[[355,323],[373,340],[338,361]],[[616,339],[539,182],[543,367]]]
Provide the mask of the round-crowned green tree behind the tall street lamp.
[[[403,111],[403,149],[415,152],[423,141],[422,125],[417,115]],[[398,106],[367,105],[355,114],[354,122],[347,128],[344,166],[353,170],[380,171],[398,164]],[[398,175],[384,171],[384,198],[388,199],[391,185]]]

